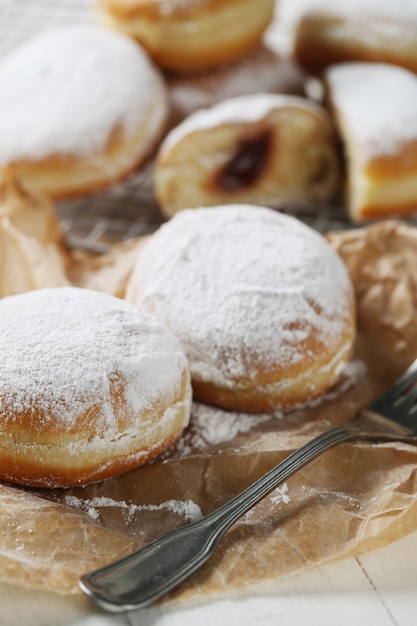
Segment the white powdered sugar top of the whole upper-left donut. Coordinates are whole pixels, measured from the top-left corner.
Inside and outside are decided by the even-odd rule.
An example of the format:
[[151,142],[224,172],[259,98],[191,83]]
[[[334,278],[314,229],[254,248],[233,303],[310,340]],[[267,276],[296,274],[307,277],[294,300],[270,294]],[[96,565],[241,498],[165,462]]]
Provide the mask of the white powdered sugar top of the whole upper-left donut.
[[0,164],[101,151],[135,130],[161,81],[128,37],[93,26],[46,30],[0,63]]

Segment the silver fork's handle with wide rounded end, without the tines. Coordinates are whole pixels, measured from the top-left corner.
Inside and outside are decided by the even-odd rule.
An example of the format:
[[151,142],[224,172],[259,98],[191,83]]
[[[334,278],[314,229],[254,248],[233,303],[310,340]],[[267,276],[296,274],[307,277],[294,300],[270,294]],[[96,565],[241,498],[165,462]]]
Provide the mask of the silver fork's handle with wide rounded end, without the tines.
[[361,432],[360,424],[350,422],[319,435],[210,515],[82,576],[81,589],[108,611],[151,604],[207,561],[225,531],[280,483],[326,450]]

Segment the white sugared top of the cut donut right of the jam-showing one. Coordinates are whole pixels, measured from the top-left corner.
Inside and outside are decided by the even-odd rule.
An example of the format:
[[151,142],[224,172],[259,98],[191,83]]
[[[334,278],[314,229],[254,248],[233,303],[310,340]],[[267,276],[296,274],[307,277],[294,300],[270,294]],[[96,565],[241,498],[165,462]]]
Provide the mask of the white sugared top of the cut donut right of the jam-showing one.
[[417,140],[417,77],[386,63],[341,63],[326,72],[342,123],[366,154],[394,154]]

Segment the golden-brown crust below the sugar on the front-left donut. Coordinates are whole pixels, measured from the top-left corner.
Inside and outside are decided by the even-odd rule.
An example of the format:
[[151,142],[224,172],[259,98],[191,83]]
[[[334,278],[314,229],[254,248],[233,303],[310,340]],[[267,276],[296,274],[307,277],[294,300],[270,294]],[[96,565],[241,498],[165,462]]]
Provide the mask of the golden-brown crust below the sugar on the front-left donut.
[[[138,416],[126,412],[120,391],[112,391],[112,400],[118,411],[118,429],[106,433],[107,446],[103,441],[100,449],[88,444],[103,436],[88,427],[94,421],[94,406],[79,415],[70,432],[60,429],[56,420],[56,427],[39,433],[36,424],[43,418],[41,409],[14,413],[15,423],[10,423],[6,405],[6,410],[0,412],[0,479],[30,487],[63,488],[102,481],[146,463],[172,445],[188,421],[188,376],[183,375],[172,403],[161,406],[158,402],[142,413],[139,419],[154,425],[145,437],[135,432]],[[164,420],[166,412],[175,413],[169,428]],[[131,434],[126,437],[127,433]],[[117,446],[118,439],[124,439],[123,445]],[[76,455],[71,452],[74,449]]]

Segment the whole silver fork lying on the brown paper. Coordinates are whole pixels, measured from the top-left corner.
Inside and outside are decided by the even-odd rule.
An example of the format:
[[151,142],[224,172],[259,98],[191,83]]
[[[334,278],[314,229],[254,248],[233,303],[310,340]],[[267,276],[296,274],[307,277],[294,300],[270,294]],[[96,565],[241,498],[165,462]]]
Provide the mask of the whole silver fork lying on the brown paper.
[[355,419],[315,437],[210,515],[82,576],[81,589],[108,611],[147,606],[207,561],[219,539],[239,517],[326,450],[351,440],[417,442],[416,382],[417,359],[384,395],[359,411]]

